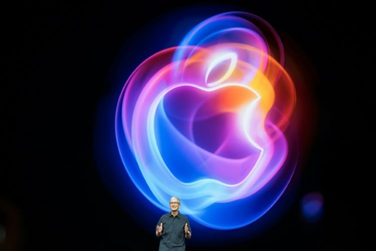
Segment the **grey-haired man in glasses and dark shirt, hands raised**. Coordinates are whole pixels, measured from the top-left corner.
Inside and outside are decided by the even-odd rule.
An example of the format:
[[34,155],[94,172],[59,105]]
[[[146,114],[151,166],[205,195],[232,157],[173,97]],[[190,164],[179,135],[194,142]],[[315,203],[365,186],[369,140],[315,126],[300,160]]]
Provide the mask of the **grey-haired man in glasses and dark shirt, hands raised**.
[[170,199],[171,212],[163,214],[156,226],[155,235],[160,237],[159,251],[185,250],[185,238],[192,237],[191,224],[185,215],[179,212],[180,200]]

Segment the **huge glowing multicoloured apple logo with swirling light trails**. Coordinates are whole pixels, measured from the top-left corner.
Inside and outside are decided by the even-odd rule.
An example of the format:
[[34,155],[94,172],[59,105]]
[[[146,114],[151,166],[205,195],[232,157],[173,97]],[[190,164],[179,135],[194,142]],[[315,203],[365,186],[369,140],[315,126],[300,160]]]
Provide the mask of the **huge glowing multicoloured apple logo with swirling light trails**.
[[125,83],[115,130],[128,175],[155,206],[216,229],[250,224],[295,168],[288,128],[296,94],[276,32],[230,12],[141,63]]

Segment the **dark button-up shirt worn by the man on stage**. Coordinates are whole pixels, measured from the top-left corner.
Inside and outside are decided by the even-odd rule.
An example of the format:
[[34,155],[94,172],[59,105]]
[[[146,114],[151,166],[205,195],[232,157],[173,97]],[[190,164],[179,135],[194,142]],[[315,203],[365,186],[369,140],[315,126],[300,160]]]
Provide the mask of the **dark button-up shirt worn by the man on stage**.
[[181,213],[178,213],[175,217],[173,217],[171,212],[169,212],[163,214],[160,217],[157,226],[160,226],[160,223],[163,223],[163,230],[159,241],[159,251],[184,251],[185,223],[188,223],[188,230],[191,231],[191,224],[188,218],[185,215],[182,215]]

